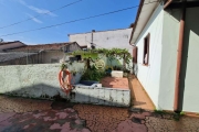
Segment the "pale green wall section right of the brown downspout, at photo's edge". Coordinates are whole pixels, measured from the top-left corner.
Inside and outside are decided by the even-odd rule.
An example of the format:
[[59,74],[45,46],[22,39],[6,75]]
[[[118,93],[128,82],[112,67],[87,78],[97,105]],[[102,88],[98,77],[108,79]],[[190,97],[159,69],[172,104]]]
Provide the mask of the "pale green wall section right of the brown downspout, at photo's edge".
[[199,112],[199,8],[188,8],[185,24],[185,43],[180,89],[182,110]]

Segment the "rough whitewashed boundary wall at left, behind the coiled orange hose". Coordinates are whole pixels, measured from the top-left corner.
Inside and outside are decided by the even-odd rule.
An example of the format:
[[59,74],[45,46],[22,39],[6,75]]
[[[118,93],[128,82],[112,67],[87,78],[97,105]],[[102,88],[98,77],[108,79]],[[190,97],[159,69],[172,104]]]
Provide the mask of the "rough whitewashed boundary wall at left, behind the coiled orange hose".
[[[31,98],[53,98],[57,95],[65,97],[57,79],[61,64],[40,65],[14,65],[0,66],[0,94]],[[81,79],[84,63],[69,65],[70,70],[77,74],[73,76],[72,82],[77,84]]]

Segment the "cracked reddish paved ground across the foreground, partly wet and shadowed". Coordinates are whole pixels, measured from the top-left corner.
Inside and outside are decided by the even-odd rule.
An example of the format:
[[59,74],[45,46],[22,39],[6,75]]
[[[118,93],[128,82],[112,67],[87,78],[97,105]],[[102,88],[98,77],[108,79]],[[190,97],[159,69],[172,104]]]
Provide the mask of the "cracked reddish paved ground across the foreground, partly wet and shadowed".
[[[179,119],[176,121],[175,119]],[[0,96],[0,132],[199,132],[199,119]]]

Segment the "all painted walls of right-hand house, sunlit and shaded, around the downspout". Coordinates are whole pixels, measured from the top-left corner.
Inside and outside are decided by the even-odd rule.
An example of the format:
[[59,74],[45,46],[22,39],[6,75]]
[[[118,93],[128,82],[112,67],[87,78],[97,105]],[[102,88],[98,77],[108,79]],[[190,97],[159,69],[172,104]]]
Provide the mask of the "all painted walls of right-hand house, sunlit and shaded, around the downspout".
[[[198,112],[199,106],[199,8],[187,8],[180,72],[179,109]],[[174,110],[179,9],[159,6],[139,35],[137,77],[159,110]],[[144,37],[150,33],[149,66],[143,66]]]

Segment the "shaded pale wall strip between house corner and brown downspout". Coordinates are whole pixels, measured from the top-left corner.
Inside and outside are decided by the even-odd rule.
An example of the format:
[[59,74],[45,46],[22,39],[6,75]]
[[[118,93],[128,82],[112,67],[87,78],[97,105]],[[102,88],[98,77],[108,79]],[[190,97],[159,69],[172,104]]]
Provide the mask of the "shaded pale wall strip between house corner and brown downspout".
[[180,10],[164,11],[161,70],[158,108],[174,110]]

